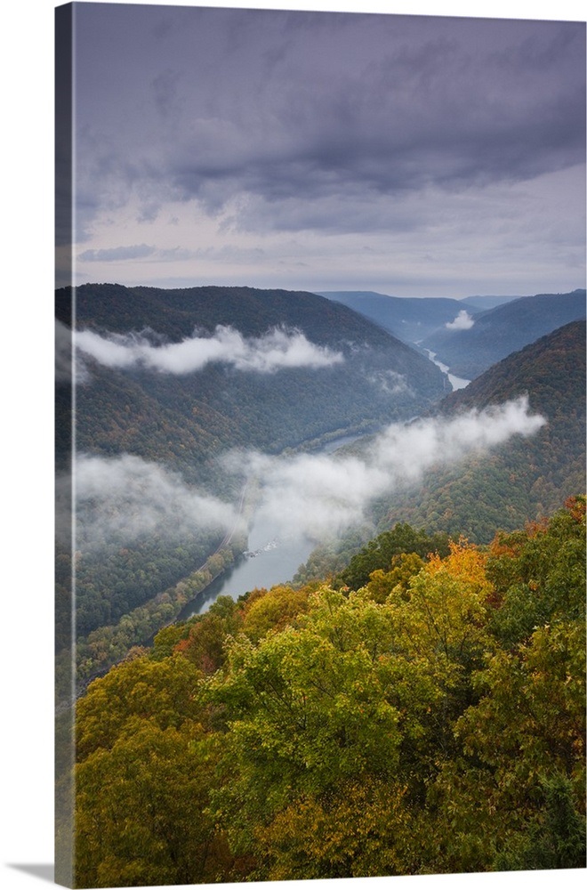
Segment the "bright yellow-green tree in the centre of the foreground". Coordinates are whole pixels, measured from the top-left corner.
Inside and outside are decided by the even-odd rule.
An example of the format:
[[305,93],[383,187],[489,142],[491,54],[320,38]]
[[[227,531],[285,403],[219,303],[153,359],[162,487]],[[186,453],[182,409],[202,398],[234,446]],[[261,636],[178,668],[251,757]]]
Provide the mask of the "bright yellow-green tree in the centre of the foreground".
[[235,638],[207,681],[227,730],[228,781],[213,801],[254,877],[414,868],[422,789],[438,771],[431,717],[454,671],[444,656],[398,651],[394,608],[323,588],[298,627],[257,646]]

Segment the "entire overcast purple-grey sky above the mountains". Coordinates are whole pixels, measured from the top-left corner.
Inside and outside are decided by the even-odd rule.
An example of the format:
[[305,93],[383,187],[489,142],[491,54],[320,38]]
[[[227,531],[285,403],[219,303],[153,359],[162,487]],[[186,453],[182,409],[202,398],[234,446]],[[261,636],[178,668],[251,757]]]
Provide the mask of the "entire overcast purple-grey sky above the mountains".
[[581,22],[77,4],[76,283],[584,287]]

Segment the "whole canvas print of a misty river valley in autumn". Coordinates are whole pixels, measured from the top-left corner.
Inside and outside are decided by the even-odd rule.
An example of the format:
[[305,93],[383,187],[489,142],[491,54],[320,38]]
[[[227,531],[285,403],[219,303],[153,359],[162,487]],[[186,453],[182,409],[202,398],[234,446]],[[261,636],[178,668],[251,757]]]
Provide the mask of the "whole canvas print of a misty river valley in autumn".
[[56,878],[585,864],[585,22],[56,10]]

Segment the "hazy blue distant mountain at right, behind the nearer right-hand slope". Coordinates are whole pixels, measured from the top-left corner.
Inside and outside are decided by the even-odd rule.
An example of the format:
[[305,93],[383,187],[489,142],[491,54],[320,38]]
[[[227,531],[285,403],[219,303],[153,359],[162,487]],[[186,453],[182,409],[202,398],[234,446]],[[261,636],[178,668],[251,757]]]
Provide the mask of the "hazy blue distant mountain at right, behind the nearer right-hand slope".
[[584,290],[523,296],[470,315],[469,327],[438,328],[422,346],[436,352],[455,375],[473,379],[538,337],[584,318]]

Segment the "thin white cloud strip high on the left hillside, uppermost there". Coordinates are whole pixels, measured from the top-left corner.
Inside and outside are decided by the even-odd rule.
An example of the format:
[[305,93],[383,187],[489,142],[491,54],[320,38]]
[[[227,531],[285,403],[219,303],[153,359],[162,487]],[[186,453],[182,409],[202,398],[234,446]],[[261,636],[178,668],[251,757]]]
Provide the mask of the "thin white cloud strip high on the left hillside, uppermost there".
[[211,362],[239,371],[271,374],[281,368],[328,368],[342,362],[342,352],[313,344],[297,329],[273,328],[246,338],[235,328],[218,325],[212,336],[196,332],[181,343],[153,343],[155,336],[76,333],[76,348],[109,368],[149,368],[164,374],[192,374]]

